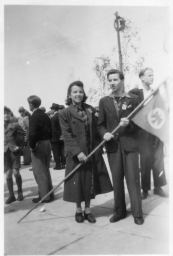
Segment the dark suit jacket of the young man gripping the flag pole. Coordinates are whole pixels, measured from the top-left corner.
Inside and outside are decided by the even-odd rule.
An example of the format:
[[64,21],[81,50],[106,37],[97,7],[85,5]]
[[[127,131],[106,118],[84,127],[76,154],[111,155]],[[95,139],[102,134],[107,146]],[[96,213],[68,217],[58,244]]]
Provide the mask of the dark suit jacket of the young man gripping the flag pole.
[[[136,108],[139,104],[139,98],[136,95],[128,95],[129,97],[125,96],[121,99],[118,116],[112,98],[106,96],[100,100],[98,129],[102,138],[105,133],[111,133],[118,126],[120,119],[123,117],[127,117],[132,112],[132,110]],[[125,103],[127,105],[127,108],[123,109],[123,104]],[[106,142],[106,150],[108,153],[115,152],[117,150],[118,141],[120,141],[121,147],[125,151],[137,151],[138,126],[130,121],[130,124],[128,126],[121,127],[120,130],[116,134],[114,134],[114,138]]]

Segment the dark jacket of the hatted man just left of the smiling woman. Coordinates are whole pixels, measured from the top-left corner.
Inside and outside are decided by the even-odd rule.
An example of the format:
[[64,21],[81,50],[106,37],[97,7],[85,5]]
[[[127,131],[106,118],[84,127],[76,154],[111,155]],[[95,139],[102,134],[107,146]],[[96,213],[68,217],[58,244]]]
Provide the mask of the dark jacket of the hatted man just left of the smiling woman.
[[62,135],[60,121],[59,121],[59,113],[55,113],[51,118],[52,123],[52,138],[51,143],[60,142],[60,137]]

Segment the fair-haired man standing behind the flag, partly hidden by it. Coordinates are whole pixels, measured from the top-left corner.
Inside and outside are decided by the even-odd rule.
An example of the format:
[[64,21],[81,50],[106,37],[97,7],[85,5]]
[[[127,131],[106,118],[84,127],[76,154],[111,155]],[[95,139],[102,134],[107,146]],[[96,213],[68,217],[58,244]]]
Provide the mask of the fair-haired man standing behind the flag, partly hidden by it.
[[[152,91],[150,85],[153,83],[153,70],[144,68],[140,71],[139,77],[142,82],[141,88],[132,89],[129,93],[138,95],[139,101],[142,102]],[[141,129],[139,131],[139,152],[142,199],[148,197],[148,190],[151,189],[151,169],[154,183],[153,193],[160,197],[167,197],[161,188],[161,186],[166,185],[163,142],[155,135]]]

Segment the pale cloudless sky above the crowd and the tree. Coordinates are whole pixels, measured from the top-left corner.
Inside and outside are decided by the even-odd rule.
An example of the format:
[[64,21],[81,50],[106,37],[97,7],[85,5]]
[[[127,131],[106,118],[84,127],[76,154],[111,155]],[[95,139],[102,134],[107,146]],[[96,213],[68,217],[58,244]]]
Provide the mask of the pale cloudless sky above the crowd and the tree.
[[53,102],[65,105],[67,87],[77,79],[87,92],[94,58],[117,45],[116,11],[139,27],[139,54],[160,83],[168,75],[168,7],[6,5],[5,105],[16,116],[19,106],[28,109],[30,95],[38,95],[47,111]]

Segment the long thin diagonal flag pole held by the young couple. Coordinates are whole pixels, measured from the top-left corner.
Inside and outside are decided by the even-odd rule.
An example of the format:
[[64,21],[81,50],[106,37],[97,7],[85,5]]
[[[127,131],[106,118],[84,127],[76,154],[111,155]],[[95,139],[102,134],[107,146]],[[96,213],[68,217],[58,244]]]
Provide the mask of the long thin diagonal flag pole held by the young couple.
[[[159,84],[155,90],[153,90],[148,97],[143,100],[126,118],[130,119],[134,114],[136,114],[144,105],[144,103],[146,103],[147,101],[149,102],[152,98],[151,96],[153,94],[155,94],[157,92],[157,90],[166,82],[167,78],[164,79],[164,81]],[[149,99],[150,98],[150,99]],[[148,103],[147,102],[147,103]],[[111,134],[116,133],[119,129],[120,129],[121,125],[119,124],[112,132]],[[87,156],[87,160],[98,150],[100,149],[104,143],[106,142],[106,140],[104,139],[88,156]],[[21,220],[23,220],[29,213],[31,213],[40,203],[42,203],[56,188],[58,188],[63,182],[65,182],[76,170],[78,170],[81,166],[83,165],[83,163],[80,163],[79,165],[77,165],[59,184],[57,184],[53,189],[51,189],[49,191],[49,193],[44,196],[37,204],[34,205],[34,207],[32,207],[20,220],[17,221],[17,223],[19,223]]]

